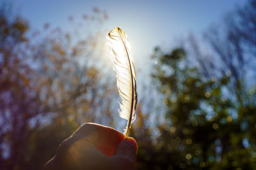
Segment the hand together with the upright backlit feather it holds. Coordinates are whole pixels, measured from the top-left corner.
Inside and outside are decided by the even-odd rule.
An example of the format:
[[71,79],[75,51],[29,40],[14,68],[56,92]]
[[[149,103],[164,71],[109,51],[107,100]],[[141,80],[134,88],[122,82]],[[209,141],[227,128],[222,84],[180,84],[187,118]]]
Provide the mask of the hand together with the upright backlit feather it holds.
[[[127,120],[124,134],[98,124],[84,124],[58,147],[44,170],[53,169],[136,169],[137,143],[127,138],[135,120],[136,73],[131,46],[122,29],[115,27],[107,37],[112,53],[116,85],[122,99],[119,115]],[[100,164],[99,164],[100,162]]]

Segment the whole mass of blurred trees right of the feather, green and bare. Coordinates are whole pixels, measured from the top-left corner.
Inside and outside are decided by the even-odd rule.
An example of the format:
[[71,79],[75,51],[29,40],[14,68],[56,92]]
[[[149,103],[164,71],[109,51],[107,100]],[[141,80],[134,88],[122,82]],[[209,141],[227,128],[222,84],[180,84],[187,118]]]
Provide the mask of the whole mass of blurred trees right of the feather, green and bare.
[[158,134],[138,117],[138,169],[256,168],[255,8],[250,0],[207,31],[207,55],[193,36],[189,59],[156,48],[152,76],[167,111]]

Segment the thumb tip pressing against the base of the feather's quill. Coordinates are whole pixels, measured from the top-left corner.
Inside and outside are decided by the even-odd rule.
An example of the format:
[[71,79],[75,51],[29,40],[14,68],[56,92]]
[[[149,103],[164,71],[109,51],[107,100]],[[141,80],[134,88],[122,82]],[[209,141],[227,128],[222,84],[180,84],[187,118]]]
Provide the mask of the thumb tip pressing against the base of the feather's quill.
[[135,139],[128,137],[122,140],[116,146],[114,155],[125,157],[131,160],[133,164],[136,164],[137,149],[138,149],[138,146]]

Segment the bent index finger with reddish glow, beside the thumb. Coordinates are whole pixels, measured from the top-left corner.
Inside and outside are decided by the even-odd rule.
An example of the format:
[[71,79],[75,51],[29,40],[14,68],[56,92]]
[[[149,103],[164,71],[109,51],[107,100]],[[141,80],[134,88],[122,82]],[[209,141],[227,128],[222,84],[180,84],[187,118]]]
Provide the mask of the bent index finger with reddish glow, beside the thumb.
[[92,123],[82,125],[74,132],[73,136],[78,136],[79,138],[86,136],[86,140],[89,143],[108,156],[113,155],[118,143],[125,138],[124,134],[111,127]]

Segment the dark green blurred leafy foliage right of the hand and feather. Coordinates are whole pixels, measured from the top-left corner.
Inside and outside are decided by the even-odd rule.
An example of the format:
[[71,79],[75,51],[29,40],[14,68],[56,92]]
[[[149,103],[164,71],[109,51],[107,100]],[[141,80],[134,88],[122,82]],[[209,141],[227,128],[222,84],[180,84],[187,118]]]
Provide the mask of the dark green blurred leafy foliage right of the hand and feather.
[[157,48],[154,59],[166,121],[156,141],[139,143],[139,169],[254,169],[255,106],[234,99],[230,76],[205,80],[180,48],[167,54]]

